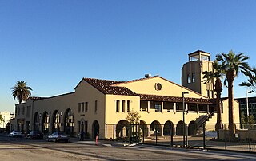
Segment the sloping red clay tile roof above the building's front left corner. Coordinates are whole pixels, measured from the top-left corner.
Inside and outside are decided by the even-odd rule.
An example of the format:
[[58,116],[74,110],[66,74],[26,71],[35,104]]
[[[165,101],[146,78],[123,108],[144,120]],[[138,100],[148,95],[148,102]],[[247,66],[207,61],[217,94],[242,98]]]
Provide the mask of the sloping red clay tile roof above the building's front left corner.
[[113,84],[122,83],[122,81],[99,80],[94,78],[84,78],[84,80],[104,94],[138,96],[138,94],[126,87],[112,86]]

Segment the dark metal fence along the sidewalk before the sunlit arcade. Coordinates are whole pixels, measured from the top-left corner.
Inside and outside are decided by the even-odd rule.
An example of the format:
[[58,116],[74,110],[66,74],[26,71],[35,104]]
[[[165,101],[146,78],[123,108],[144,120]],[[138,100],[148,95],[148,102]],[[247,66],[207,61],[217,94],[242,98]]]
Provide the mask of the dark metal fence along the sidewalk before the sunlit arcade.
[[[198,128],[200,126],[201,128]],[[256,152],[256,124],[106,124],[105,139],[169,147]],[[234,133],[230,133],[233,127]],[[183,133],[186,144],[183,144]]]

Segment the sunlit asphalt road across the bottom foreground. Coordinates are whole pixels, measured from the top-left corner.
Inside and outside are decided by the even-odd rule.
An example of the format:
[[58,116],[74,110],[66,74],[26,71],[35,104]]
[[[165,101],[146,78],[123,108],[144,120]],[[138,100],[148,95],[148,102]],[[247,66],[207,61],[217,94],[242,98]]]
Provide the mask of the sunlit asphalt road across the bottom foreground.
[[149,145],[78,141],[53,143],[0,135],[1,160],[256,160],[256,155],[227,151],[202,151]]

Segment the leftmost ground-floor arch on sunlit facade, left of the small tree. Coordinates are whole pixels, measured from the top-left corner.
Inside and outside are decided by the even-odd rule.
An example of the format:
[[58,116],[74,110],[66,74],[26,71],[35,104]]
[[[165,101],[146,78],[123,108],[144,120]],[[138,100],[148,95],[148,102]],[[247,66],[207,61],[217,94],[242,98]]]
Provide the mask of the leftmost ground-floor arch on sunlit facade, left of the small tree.
[[116,138],[121,139],[126,139],[126,137],[129,136],[129,128],[130,124],[126,120],[120,120],[117,124],[116,127]]

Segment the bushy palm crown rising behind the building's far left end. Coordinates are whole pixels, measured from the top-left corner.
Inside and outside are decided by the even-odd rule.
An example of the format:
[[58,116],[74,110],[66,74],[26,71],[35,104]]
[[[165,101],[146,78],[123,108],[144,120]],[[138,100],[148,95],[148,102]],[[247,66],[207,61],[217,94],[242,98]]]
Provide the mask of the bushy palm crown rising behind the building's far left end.
[[32,91],[32,88],[28,87],[25,81],[17,81],[11,90],[13,92],[14,100],[17,98],[18,103],[21,104],[22,101],[27,100],[31,95],[30,91]]

